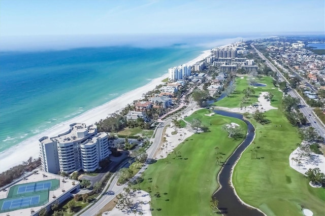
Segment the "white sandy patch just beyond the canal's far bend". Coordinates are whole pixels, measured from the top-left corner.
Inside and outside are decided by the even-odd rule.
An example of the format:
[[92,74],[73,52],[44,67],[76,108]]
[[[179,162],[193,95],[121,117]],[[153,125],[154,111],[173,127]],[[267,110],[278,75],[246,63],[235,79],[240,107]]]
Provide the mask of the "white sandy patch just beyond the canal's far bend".
[[229,112],[234,112],[234,113],[254,113],[256,110],[259,110],[260,112],[267,112],[269,110],[276,110],[278,109],[277,107],[274,107],[271,105],[271,101],[267,101],[264,98],[264,95],[268,94],[268,92],[261,92],[261,94],[258,97],[258,106],[247,106],[247,107],[236,107],[236,108],[228,108],[228,107],[222,107],[222,106],[215,106],[215,109],[219,110],[225,110]]

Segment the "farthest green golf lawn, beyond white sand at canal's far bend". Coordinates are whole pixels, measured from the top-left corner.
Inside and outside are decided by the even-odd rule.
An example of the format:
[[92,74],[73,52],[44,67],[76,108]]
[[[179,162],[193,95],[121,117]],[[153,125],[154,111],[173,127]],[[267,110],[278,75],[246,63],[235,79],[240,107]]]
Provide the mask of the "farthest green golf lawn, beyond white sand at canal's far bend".
[[269,91],[271,87],[274,87],[272,83],[272,78],[271,77],[262,77],[261,79],[255,78],[254,80],[257,83],[263,83],[266,84],[267,86],[249,86],[247,77],[243,77],[241,79],[240,77],[236,78],[236,89],[233,94],[229,95],[228,97],[225,97],[215,103],[213,103],[216,106],[224,106],[224,107],[229,107],[229,108],[234,108],[234,107],[240,107],[241,105],[241,99],[245,96],[245,94],[242,93],[242,91],[248,87],[252,88],[255,91],[255,94],[252,95],[246,103],[243,104],[243,106],[249,106],[253,103],[258,102],[257,98],[259,94],[263,91]]

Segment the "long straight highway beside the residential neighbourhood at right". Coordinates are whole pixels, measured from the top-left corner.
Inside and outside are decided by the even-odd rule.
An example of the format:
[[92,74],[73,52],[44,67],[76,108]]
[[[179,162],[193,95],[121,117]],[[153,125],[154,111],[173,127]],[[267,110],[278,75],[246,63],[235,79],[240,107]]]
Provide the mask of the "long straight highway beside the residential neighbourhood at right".
[[[261,57],[266,61],[266,64],[275,72],[277,72],[281,79],[286,81],[289,85],[289,82],[286,80],[286,78],[280,73],[278,68],[276,68],[272,62],[270,62],[261,52],[259,52],[252,44],[251,47],[255,49],[258,56]],[[310,84],[309,84],[310,85]],[[310,123],[310,125],[316,129],[318,134],[325,138],[325,125],[321,122],[321,120],[316,116],[313,109],[305,102],[305,100],[300,96],[300,94],[295,89],[290,89],[288,91],[288,94],[291,97],[298,97],[300,98],[302,106],[300,107],[300,112],[304,114],[307,118],[307,121]]]

